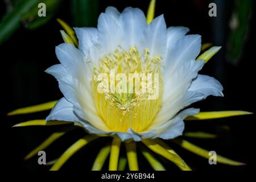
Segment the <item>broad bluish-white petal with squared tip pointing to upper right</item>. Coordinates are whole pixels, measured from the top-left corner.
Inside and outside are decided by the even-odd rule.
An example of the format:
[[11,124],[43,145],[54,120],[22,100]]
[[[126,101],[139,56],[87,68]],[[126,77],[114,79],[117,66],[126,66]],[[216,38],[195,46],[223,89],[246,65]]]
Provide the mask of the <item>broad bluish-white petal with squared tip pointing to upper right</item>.
[[169,47],[164,57],[164,79],[170,76],[186,61],[195,60],[201,49],[200,35],[186,35],[180,38],[175,46]]

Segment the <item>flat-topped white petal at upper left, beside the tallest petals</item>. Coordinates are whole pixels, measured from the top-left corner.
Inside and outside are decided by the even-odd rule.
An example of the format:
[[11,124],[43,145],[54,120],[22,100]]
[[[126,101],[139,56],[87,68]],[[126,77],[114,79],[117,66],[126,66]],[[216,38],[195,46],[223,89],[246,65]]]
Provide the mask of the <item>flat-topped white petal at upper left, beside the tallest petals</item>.
[[89,49],[97,43],[98,31],[97,28],[74,28],[76,36],[79,40],[79,49],[87,55]]

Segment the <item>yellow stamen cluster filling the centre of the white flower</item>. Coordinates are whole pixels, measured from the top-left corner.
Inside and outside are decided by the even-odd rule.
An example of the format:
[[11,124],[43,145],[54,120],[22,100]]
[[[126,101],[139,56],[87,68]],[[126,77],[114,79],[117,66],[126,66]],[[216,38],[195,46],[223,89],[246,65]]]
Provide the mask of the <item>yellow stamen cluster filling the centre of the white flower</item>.
[[[127,132],[131,128],[141,132],[158,113],[163,92],[162,58],[149,55],[146,48],[141,55],[137,47],[130,47],[129,51],[118,47],[94,68],[94,104],[110,130]],[[118,77],[120,75],[122,77]],[[103,92],[99,92],[99,88]]]

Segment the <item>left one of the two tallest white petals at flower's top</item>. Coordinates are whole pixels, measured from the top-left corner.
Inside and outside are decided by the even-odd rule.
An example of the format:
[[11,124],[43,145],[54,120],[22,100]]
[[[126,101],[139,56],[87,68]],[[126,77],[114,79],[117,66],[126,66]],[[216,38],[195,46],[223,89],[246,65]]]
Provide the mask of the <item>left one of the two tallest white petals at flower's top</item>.
[[117,49],[123,35],[120,13],[114,7],[108,7],[98,18],[98,43],[101,46],[101,56]]

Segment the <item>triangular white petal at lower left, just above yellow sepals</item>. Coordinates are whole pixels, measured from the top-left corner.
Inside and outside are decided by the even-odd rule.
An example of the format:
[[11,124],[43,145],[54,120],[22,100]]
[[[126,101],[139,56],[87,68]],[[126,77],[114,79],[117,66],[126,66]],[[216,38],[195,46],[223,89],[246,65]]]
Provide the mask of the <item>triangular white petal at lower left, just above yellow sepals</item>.
[[74,113],[73,104],[63,97],[57,102],[46,118],[46,121],[50,120],[79,122],[80,119]]

